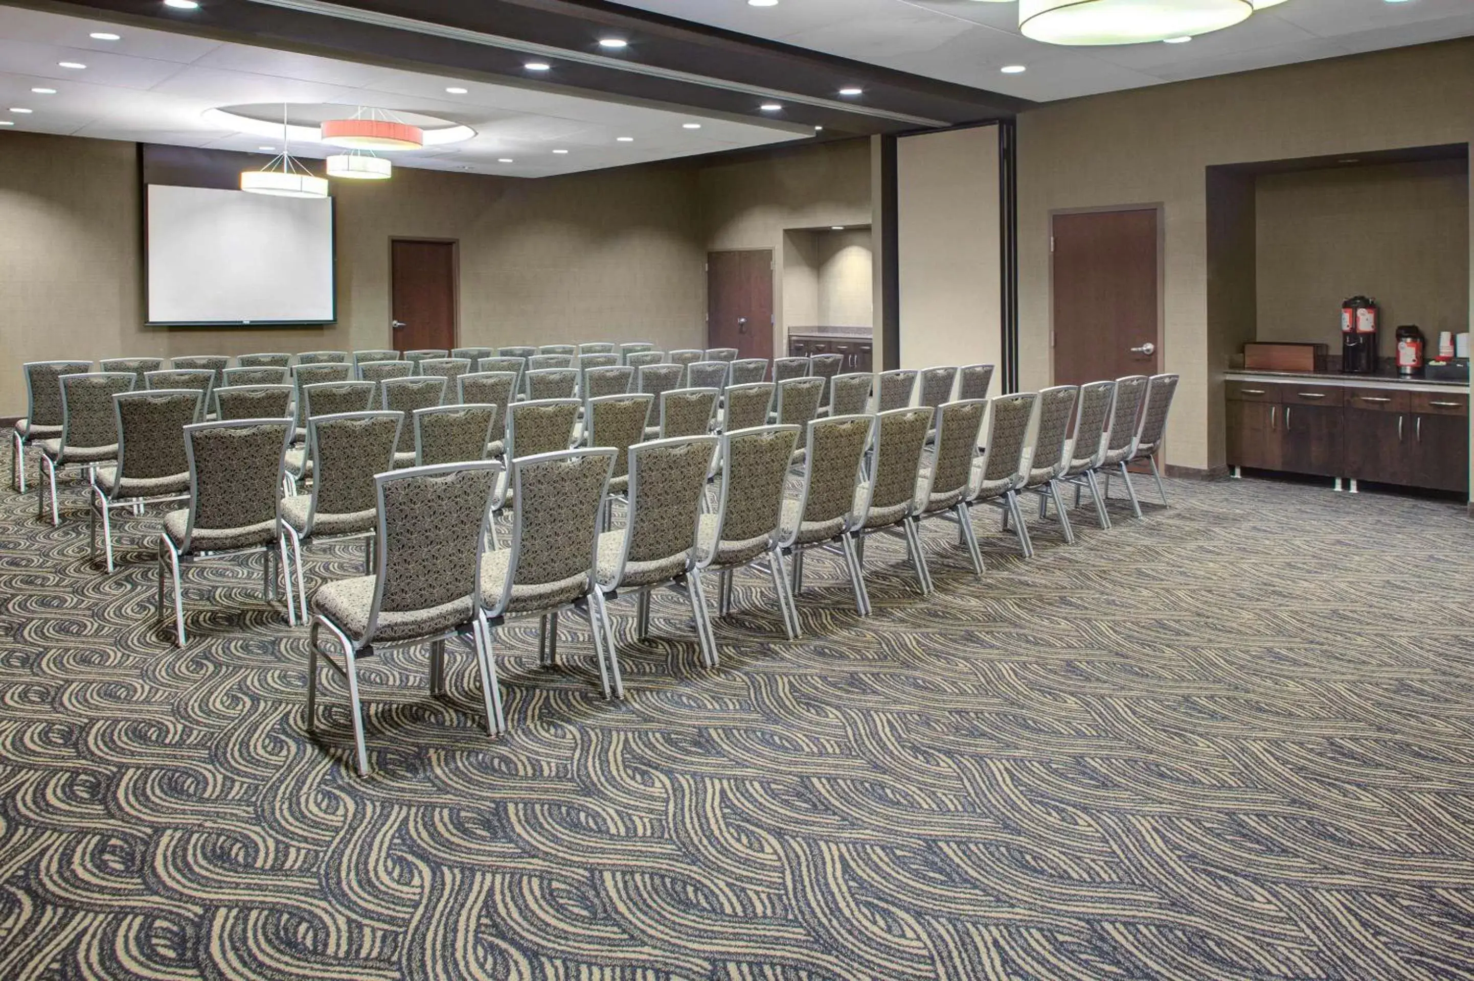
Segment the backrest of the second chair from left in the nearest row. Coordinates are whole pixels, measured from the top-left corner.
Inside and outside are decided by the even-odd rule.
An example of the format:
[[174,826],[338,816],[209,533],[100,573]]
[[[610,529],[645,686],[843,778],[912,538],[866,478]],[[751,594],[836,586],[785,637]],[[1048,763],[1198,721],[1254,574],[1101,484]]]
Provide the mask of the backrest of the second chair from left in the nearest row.
[[565,449],[511,461],[509,486],[511,554],[501,597],[482,597],[492,616],[511,600],[511,588],[554,583],[579,576],[593,586],[598,532],[615,451]]

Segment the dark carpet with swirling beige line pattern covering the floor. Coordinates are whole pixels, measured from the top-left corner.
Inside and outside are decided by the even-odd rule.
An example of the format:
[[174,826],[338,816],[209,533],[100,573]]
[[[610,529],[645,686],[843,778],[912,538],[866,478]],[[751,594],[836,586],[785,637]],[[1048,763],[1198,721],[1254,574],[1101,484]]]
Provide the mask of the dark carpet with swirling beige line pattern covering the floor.
[[175,650],[155,518],[105,576],[80,493],[0,490],[0,978],[1474,977],[1462,507],[1169,493],[1027,563],[980,516],[982,583],[937,523],[932,601],[876,539],[868,620],[811,557],[792,644],[749,573],[716,670],[624,600],[624,703],[507,630],[495,741],[469,654],[374,657],[360,779],[256,569],[192,567]]

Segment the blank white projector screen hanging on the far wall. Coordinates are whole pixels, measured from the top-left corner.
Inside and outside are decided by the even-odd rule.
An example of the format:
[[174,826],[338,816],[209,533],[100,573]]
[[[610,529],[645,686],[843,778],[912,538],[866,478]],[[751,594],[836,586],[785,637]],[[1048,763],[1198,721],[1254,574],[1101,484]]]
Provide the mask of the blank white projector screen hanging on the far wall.
[[147,186],[150,324],[321,324],[333,199]]

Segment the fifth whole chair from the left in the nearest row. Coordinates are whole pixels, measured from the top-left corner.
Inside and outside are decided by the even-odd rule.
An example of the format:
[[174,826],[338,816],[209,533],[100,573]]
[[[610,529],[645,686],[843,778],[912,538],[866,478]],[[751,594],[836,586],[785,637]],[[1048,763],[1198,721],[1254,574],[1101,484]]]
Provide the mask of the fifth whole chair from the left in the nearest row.
[[[808,460],[797,499],[783,502],[778,545],[793,557],[793,594],[803,592],[803,552],[839,545],[855,591],[855,610],[867,610],[865,583],[849,529],[855,524],[855,488],[861,483],[861,461],[870,446],[873,415],[839,415],[809,426]],[[722,583],[724,588],[727,583]],[[794,614],[797,607],[794,605]]]

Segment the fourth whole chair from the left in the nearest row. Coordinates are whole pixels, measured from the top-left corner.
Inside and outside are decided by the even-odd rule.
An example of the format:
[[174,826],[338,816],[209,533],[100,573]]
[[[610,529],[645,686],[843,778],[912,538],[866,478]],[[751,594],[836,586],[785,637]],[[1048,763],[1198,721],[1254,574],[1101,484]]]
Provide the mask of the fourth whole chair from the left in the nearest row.
[[[789,461],[799,442],[797,426],[761,426],[722,433],[721,457],[727,461],[721,504],[703,514],[697,526],[696,564],[721,574],[719,616],[731,610],[731,577],[737,569],[766,560],[772,589],[783,613],[789,639],[799,636],[799,616],[783,570],[778,527]],[[712,642],[716,655],[715,636]]]

